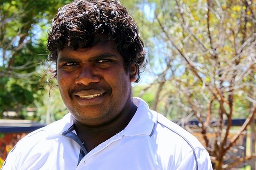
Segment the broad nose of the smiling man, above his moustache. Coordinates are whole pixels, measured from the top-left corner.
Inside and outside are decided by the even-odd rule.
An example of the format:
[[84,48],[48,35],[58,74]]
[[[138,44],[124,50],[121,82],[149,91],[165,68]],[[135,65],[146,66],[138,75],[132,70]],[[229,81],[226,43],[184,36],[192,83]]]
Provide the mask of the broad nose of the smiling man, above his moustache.
[[90,64],[81,66],[79,75],[75,79],[76,84],[89,85],[90,83],[99,82],[100,77],[97,75],[95,69]]

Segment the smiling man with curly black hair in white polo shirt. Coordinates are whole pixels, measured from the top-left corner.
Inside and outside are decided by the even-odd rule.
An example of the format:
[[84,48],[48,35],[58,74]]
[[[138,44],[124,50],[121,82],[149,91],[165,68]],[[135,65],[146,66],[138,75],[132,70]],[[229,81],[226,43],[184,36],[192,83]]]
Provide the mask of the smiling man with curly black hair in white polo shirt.
[[20,140],[3,170],[212,169],[194,136],[132,98],[145,52],[124,6],[76,0],[62,7],[47,47],[70,113]]

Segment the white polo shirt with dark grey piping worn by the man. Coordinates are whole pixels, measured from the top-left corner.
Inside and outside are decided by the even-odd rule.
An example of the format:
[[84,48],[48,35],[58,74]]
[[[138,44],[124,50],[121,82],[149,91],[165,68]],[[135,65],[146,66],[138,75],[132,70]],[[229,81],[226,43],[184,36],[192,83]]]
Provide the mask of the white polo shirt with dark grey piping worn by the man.
[[89,153],[69,113],[21,139],[3,170],[212,170],[200,142],[140,98],[128,126]]

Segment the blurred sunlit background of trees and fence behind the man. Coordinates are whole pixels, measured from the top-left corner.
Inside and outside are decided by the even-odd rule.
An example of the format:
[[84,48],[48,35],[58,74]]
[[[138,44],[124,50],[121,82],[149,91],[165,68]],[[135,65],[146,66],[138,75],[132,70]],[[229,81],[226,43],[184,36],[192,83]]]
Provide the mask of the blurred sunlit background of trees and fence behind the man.
[[[70,1],[0,0],[0,167],[19,139],[68,112],[46,38]],[[255,169],[256,1],[120,2],[147,51],[133,96],[193,133],[214,169]]]

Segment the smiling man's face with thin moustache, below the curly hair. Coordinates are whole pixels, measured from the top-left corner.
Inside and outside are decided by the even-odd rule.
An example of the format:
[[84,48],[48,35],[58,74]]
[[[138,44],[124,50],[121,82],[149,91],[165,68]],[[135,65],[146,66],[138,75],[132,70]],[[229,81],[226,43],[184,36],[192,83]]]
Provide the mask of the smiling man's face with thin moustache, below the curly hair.
[[[131,69],[136,72],[135,66]],[[136,76],[125,71],[112,41],[59,51],[57,79],[69,112],[85,125],[108,123],[131,107],[131,82]]]

